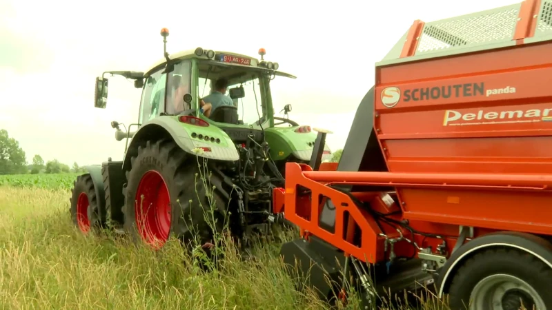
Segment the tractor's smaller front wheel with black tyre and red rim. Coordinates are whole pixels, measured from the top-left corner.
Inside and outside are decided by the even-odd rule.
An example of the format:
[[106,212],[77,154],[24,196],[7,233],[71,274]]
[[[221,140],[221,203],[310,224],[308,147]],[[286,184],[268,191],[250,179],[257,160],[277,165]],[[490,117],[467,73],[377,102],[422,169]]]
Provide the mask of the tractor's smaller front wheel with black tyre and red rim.
[[90,230],[101,229],[103,223],[99,217],[98,197],[90,174],[77,176],[71,192],[69,212],[73,224],[83,234],[88,234]]

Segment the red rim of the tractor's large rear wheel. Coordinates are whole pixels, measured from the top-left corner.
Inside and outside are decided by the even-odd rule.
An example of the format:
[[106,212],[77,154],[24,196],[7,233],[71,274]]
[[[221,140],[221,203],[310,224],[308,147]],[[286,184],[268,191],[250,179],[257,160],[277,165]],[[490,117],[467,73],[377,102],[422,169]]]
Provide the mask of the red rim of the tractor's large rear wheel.
[[142,176],[136,191],[136,224],[142,239],[152,247],[162,247],[170,231],[170,196],[159,172]]

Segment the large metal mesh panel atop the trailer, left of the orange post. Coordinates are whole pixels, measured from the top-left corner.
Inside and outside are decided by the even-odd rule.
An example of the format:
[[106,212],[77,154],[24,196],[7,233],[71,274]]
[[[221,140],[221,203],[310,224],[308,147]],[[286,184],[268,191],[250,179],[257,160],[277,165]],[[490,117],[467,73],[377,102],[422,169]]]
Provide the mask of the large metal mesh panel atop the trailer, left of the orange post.
[[510,40],[519,5],[480,12],[460,19],[426,23],[416,54],[462,45]]

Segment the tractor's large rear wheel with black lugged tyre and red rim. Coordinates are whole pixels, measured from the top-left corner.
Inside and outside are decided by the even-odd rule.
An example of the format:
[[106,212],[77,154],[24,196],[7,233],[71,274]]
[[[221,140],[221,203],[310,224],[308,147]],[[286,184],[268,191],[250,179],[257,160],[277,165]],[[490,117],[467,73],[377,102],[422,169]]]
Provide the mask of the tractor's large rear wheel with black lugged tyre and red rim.
[[[155,249],[170,236],[186,245],[199,241],[211,257],[206,245],[214,243],[213,227],[219,233],[223,229],[221,209],[224,210],[225,202],[204,186],[200,172],[205,171],[199,169],[197,157],[184,152],[172,140],[147,141],[138,147],[137,156],[132,156],[130,163],[123,213],[125,230],[132,239]],[[213,208],[207,198],[208,189],[213,193]]]

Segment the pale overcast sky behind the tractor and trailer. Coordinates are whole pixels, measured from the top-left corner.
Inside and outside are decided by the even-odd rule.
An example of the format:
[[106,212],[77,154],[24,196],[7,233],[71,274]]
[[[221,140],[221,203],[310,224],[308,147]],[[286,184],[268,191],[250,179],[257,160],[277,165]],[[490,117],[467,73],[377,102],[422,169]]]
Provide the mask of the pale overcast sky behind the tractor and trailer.
[[[436,21],[521,0],[387,1],[37,1],[0,0],[0,129],[26,152],[72,165],[121,160],[124,141],[111,121],[135,123],[140,90],[110,78],[108,105],[93,105],[95,77],[107,70],[144,71],[168,52],[197,47],[279,63],[296,80],[271,85],[275,111],[331,130],[345,144],[380,61],[413,21]],[[261,4],[262,3],[262,4]],[[277,115],[280,116],[280,115]]]

